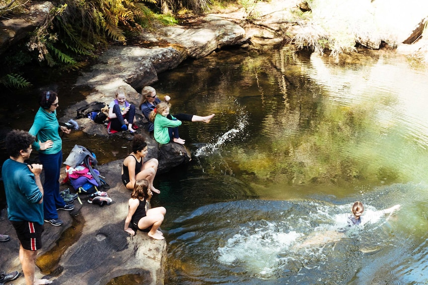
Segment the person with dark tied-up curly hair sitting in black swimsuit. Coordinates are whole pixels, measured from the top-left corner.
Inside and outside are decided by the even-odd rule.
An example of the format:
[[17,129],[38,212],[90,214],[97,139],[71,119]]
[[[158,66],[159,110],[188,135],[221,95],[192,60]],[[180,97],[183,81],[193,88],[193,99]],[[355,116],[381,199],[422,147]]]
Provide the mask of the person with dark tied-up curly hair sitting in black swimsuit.
[[144,158],[147,155],[147,143],[142,135],[137,134],[134,136],[132,140],[132,151],[133,152],[123,161],[123,184],[127,189],[133,190],[136,180],[146,179],[149,183],[149,189],[159,194],[160,191],[153,186],[153,179],[156,175],[159,162],[155,158],[144,162]]

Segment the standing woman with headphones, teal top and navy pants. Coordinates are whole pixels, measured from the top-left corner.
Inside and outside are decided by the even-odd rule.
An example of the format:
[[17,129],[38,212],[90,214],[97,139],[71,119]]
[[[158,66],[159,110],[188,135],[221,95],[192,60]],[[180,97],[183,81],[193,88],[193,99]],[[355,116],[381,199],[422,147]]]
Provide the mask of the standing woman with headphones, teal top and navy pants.
[[63,141],[59,132],[70,133],[70,129],[60,126],[57,119],[58,95],[47,91],[41,96],[40,108],[34,117],[29,133],[36,137],[33,149],[39,152],[39,159],[45,171],[43,189],[44,221],[53,226],[61,226],[57,210],[71,211],[73,205],[66,204],[60,195],[60,170],[63,163]]

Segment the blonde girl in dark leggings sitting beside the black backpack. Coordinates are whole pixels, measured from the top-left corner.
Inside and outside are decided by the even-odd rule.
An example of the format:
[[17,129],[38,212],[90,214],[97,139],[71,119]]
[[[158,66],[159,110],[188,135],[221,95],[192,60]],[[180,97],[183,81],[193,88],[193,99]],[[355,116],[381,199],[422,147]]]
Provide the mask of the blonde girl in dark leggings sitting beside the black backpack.
[[[109,104],[109,124],[107,131],[129,131],[134,133],[132,125],[137,121],[135,118],[135,106],[126,101],[124,87],[116,90],[116,99]],[[114,130],[114,131],[112,131]]]

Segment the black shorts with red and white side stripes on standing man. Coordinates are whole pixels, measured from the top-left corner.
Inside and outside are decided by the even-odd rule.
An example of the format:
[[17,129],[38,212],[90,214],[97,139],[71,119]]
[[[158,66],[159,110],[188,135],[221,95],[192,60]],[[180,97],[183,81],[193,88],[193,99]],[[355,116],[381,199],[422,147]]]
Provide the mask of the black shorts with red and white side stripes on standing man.
[[43,225],[33,222],[10,221],[24,249],[36,251],[42,248]]

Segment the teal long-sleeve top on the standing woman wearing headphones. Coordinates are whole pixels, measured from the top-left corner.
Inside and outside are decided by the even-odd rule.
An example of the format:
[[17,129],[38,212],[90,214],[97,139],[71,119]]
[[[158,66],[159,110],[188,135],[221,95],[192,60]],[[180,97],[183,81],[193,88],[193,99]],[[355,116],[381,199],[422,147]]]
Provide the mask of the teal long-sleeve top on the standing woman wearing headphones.
[[[44,154],[59,153],[63,147],[63,141],[60,137],[59,129],[60,124],[57,119],[57,111],[55,110],[52,113],[40,107],[34,117],[33,125],[28,131],[36,137],[36,141],[32,144],[33,149]],[[52,140],[54,142],[53,146],[46,150],[40,150],[39,141],[45,142],[47,140]]]

